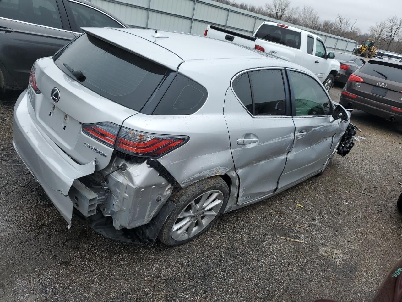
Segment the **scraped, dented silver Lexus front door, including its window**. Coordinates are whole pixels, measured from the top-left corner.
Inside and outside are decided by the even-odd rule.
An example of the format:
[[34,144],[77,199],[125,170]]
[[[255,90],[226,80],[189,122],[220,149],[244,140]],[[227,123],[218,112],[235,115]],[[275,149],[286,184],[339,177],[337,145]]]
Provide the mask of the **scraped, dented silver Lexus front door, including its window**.
[[292,95],[295,141],[287,156],[279,189],[320,172],[336,146],[334,136],[339,130],[338,120],[331,116],[333,105],[322,85],[303,72],[287,70],[287,74]]

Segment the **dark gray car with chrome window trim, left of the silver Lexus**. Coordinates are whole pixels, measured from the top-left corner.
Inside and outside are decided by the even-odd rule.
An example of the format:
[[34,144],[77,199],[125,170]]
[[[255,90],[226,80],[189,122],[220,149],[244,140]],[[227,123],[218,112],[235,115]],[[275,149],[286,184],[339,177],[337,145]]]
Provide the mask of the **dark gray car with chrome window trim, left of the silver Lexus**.
[[33,63],[53,56],[81,27],[128,27],[85,0],[0,0],[0,92],[25,89]]

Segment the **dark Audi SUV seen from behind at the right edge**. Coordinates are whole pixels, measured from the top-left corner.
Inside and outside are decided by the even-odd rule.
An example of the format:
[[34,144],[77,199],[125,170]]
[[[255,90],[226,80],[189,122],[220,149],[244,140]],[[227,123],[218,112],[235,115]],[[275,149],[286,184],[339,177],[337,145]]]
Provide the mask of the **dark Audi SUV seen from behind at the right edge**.
[[374,58],[353,72],[340,104],[402,123],[402,56]]

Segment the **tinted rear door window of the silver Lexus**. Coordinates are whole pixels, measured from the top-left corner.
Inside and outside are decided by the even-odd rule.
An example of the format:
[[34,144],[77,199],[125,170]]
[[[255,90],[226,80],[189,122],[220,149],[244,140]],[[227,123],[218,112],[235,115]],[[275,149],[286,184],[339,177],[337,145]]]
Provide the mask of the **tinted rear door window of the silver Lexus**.
[[281,70],[256,70],[242,74],[233,82],[233,89],[254,116],[286,115]]

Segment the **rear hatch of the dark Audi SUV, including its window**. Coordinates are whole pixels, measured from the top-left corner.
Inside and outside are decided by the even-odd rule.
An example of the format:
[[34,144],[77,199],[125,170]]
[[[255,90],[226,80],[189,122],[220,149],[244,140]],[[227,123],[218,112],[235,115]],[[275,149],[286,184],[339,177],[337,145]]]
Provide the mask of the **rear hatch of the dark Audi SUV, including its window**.
[[370,60],[354,74],[364,82],[348,82],[350,93],[386,105],[402,107],[402,64],[399,60]]

